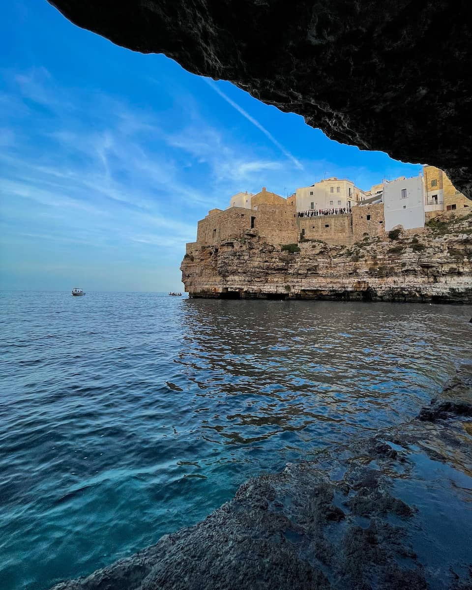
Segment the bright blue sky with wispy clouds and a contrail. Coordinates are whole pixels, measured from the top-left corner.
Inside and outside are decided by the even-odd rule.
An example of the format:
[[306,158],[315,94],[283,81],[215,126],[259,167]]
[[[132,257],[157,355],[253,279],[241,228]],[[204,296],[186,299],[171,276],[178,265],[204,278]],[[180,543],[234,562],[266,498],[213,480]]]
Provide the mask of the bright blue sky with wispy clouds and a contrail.
[[182,289],[208,209],[323,175],[363,189],[418,165],[332,142],[227,82],[8,2],[0,25],[3,289]]

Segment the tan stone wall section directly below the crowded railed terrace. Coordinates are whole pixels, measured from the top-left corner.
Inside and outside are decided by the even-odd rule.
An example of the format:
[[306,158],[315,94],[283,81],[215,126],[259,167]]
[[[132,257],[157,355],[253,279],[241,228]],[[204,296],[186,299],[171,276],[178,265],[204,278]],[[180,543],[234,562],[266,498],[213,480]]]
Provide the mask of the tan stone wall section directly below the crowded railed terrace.
[[321,240],[327,244],[350,245],[353,243],[352,214],[315,215],[298,217],[297,224],[306,240]]

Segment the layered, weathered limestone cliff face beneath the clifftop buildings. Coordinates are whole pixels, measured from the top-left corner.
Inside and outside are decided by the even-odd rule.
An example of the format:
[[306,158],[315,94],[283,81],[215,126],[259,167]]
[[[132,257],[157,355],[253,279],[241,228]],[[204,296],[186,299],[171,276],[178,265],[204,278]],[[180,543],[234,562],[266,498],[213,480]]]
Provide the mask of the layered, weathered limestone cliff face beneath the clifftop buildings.
[[436,219],[416,235],[298,248],[284,251],[254,231],[196,246],[182,261],[182,281],[192,297],[472,303],[472,214]]

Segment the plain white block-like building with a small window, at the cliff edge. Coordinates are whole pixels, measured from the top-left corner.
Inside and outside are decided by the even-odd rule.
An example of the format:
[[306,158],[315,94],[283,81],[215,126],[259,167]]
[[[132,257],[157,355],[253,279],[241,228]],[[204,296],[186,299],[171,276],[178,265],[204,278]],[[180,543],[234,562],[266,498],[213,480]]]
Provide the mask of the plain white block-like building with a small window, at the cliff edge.
[[405,230],[424,227],[424,184],[421,174],[412,178],[397,178],[383,185],[383,214],[385,231],[395,225]]

